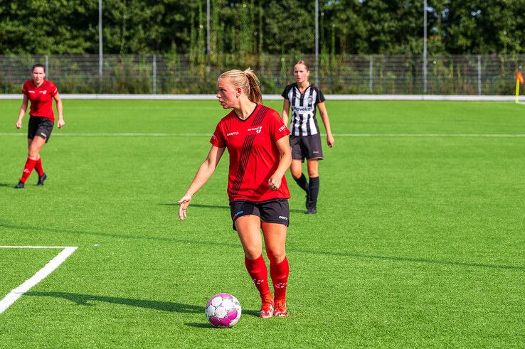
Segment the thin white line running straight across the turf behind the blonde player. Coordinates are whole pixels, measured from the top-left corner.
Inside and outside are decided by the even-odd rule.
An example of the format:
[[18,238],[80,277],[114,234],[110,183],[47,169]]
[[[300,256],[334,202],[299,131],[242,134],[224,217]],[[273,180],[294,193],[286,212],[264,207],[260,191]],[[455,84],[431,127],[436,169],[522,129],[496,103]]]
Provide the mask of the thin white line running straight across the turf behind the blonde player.
[[[0,136],[26,136],[21,132],[0,132]],[[181,134],[164,134],[164,133],[53,133],[53,136],[68,137],[211,137],[207,133],[181,133]],[[322,136],[327,136],[322,134]],[[523,138],[525,134],[334,134],[334,137],[507,137]]]

